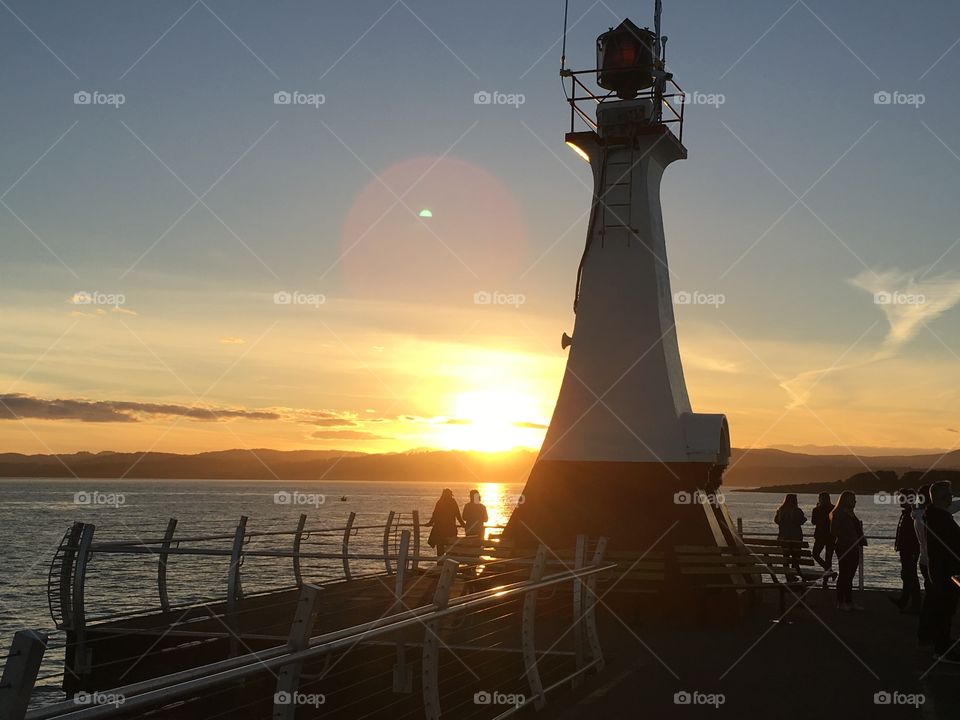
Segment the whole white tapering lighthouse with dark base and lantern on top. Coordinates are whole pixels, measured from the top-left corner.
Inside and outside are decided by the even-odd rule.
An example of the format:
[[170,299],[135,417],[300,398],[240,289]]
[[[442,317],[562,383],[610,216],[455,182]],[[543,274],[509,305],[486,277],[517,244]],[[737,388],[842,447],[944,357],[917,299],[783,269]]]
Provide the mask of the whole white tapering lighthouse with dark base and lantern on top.
[[503,534],[518,547],[570,547],[587,534],[644,552],[730,532],[717,493],[727,419],[692,410],[670,289],[660,181],[687,150],[666,41],[658,0],[654,30],[624,20],[597,39],[594,69],[561,70],[572,89],[566,142],[590,163],[593,205],[560,393]]

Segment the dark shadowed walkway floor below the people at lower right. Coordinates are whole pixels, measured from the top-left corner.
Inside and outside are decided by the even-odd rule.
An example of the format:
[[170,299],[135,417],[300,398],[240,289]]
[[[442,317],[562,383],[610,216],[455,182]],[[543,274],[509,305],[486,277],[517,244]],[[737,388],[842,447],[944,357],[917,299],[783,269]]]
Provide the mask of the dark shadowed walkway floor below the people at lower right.
[[809,610],[796,606],[789,623],[773,622],[772,593],[726,626],[626,623],[604,612],[606,669],[550,698],[550,717],[960,718],[960,666],[918,648],[916,617],[900,615],[884,592],[854,594],[866,609],[841,613],[832,588],[813,590]]

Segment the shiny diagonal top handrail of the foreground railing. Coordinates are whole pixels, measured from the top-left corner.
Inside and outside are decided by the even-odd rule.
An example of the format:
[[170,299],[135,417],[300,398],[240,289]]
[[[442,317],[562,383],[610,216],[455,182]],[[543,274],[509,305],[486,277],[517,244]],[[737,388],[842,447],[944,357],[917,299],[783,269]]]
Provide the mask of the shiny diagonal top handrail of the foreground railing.
[[[153,707],[160,703],[169,703],[192,693],[198,693],[227,682],[232,683],[267,670],[322,657],[371,638],[422,624],[425,620],[440,621],[452,615],[501,603],[505,599],[521,597],[527,593],[563,582],[576,581],[607,572],[615,567],[615,563],[600,566],[591,565],[554,573],[537,581],[525,580],[496,586],[451,599],[446,607],[440,609],[433,604],[424,605],[360,623],[350,628],[327,632],[311,638],[307,647],[303,650],[290,651],[287,645],[278,646],[259,653],[248,653],[159,678],[111,688],[109,692],[124,697],[120,712],[126,715],[131,711]],[[74,702],[66,701],[29,712],[26,718],[27,720],[46,720],[47,718],[94,720],[95,718],[111,717],[116,712],[117,710],[109,705],[78,709]]]

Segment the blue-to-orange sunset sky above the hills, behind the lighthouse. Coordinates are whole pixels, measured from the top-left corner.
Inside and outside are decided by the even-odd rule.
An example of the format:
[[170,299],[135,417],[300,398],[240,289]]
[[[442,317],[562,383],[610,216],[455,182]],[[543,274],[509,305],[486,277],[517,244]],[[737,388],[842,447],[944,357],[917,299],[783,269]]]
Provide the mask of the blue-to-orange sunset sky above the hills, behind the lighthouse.
[[[592,187],[560,0],[0,5],[0,451],[539,446]],[[664,5],[723,100],[663,185],[673,291],[724,300],[676,308],[694,408],[956,447],[960,4]],[[568,63],[652,6],[573,0]]]

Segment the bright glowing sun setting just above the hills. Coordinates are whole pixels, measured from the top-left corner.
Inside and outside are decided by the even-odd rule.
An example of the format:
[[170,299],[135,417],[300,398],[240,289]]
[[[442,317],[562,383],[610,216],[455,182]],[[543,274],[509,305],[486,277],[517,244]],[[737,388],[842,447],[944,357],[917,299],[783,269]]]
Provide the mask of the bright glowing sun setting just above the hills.
[[458,393],[439,444],[460,450],[495,452],[515,447],[536,448],[543,441],[537,401],[522,392],[503,389]]

